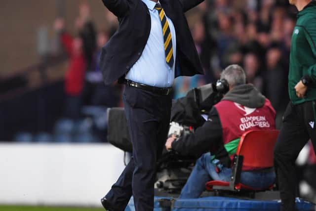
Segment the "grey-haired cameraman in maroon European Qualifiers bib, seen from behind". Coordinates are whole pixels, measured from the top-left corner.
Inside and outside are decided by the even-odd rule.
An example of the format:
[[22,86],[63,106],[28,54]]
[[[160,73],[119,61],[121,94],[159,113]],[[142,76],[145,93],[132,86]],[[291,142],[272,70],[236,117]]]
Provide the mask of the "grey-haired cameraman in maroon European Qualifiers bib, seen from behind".
[[[252,84],[245,84],[246,76],[240,66],[227,67],[220,83],[228,92],[212,108],[203,126],[178,139],[172,136],[165,144],[167,150],[200,156],[179,198],[199,197],[207,181],[230,180],[232,158],[244,132],[275,129],[274,108]],[[241,183],[253,188],[267,188],[274,181],[273,169],[247,169],[241,173]]]

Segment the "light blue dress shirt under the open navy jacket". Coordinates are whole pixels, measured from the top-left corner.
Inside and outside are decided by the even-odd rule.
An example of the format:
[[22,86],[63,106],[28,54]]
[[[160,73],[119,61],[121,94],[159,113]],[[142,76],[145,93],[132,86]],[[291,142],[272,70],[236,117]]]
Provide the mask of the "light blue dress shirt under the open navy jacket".
[[151,17],[150,35],[141,57],[126,74],[125,79],[156,87],[171,87],[176,63],[176,33],[173,23],[166,16],[171,32],[174,58],[173,67],[170,68],[166,62],[159,12],[155,9],[156,2],[142,1],[146,3]]

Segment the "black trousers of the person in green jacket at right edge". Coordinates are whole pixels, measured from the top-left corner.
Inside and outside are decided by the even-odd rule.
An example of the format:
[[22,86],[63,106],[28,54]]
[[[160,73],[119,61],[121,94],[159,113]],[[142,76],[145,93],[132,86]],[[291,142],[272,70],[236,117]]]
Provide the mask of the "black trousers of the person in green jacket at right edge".
[[281,211],[295,211],[297,180],[295,161],[309,139],[316,149],[315,103],[288,104],[274,150],[274,162],[281,197]]

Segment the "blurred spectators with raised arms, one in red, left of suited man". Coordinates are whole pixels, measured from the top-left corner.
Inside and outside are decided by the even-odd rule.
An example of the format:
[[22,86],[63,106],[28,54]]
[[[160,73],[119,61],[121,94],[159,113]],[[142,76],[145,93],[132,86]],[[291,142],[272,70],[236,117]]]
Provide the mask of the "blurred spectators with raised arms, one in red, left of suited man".
[[[113,19],[113,18],[112,18]],[[112,20],[109,18],[109,20]],[[113,27],[99,31],[91,19],[91,11],[86,2],[79,5],[79,16],[74,26],[76,33],[70,35],[63,18],[54,23],[60,43],[69,57],[68,71],[65,76],[64,116],[78,119],[83,105],[115,107],[120,105],[121,87],[105,85],[99,66],[101,47],[109,40]]]

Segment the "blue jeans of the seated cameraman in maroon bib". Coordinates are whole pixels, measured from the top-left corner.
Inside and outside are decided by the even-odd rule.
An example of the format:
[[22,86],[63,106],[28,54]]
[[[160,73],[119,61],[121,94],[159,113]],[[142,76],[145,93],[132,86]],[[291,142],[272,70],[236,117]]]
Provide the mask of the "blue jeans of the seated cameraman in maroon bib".
[[[205,153],[197,159],[196,166],[192,170],[190,177],[181,191],[179,198],[198,198],[205,190],[205,183],[210,180],[221,180],[228,182],[232,174],[232,169],[223,168],[219,173],[211,162],[211,154]],[[241,172],[241,183],[253,188],[267,188],[275,181],[275,172],[243,171]]]

